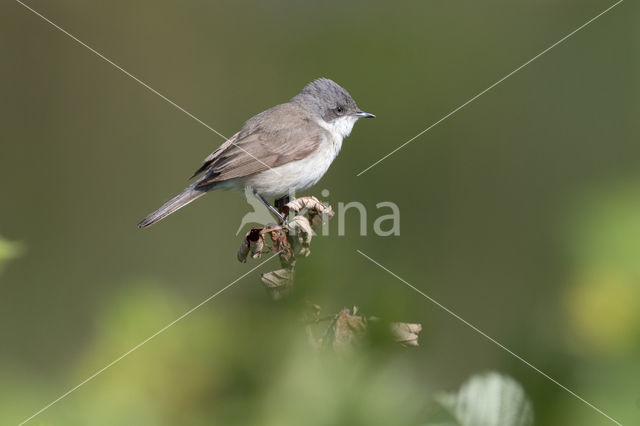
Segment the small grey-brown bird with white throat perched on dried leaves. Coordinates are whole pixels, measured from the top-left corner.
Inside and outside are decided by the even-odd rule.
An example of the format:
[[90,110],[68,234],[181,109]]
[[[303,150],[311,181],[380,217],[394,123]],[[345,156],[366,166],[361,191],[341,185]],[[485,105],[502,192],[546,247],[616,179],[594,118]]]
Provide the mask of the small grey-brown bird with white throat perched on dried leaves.
[[375,116],[360,110],[337,83],[319,78],[289,102],[247,120],[238,133],[205,158],[191,179],[201,177],[138,227],[153,225],[212,189],[250,187],[279,215],[264,197],[285,198],[318,182],[361,117]]

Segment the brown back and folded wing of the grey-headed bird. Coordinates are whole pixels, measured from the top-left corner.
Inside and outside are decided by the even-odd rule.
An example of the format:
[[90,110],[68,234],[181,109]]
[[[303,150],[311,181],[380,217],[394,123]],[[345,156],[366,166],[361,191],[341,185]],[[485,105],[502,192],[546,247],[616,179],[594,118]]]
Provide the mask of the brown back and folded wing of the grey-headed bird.
[[327,136],[326,131],[306,114],[288,104],[278,105],[249,120],[235,140],[229,139],[207,157],[207,172],[196,186],[248,176],[301,160],[315,151]]

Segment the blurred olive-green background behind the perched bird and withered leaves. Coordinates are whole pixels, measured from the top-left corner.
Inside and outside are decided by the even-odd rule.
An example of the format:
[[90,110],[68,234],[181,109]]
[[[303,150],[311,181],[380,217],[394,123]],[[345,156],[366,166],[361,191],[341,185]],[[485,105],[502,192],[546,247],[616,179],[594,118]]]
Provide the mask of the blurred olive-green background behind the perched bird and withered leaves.
[[[318,359],[255,272],[33,424],[424,424],[436,392],[487,370],[522,384],[536,424],[612,424],[356,249],[640,423],[637,4],[360,177],[612,2],[28,4],[225,135],[317,77],[347,88],[378,118],[307,193],[364,203],[370,231],[393,201],[401,235],[332,223],[294,300],[424,327],[419,348]],[[135,226],[221,138],[13,1],[0,52],[0,422],[17,424],[256,263],[235,260],[238,194]]]

